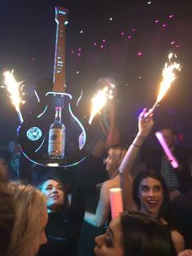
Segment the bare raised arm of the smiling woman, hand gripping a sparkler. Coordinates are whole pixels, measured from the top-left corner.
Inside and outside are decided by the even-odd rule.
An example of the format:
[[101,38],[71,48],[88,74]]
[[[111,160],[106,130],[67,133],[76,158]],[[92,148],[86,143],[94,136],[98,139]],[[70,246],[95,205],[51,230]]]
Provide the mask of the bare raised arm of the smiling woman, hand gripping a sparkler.
[[146,137],[150,134],[153,124],[153,114],[150,111],[147,112],[146,108],[144,108],[138,117],[137,136],[130,145],[124,156],[124,160],[120,165],[120,186],[123,189],[124,210],[136,209],[132,196],[133,179],[130,174],[130,170],[133,167],[138,152],[142,148],[142,144],[144,143]]

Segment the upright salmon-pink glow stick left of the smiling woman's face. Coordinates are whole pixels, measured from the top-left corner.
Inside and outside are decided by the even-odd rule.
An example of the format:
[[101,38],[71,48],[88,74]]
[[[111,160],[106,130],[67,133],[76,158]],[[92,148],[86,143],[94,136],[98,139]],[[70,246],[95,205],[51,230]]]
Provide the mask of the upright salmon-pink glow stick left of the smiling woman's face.
[[116,218],[123,212],[122,189],[110,188],[111,217]]

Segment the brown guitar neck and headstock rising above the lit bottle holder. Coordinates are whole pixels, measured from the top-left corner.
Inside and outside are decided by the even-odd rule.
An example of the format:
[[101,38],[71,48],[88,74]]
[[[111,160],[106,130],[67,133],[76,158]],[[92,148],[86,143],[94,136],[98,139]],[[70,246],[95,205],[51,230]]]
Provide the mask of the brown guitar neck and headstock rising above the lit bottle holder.
[[57,23],[57,33],[55,40],[55,65],[53,91],[65,91],[65,23],[67,21],[67,11],[62,7],[55,7],[55,21]]

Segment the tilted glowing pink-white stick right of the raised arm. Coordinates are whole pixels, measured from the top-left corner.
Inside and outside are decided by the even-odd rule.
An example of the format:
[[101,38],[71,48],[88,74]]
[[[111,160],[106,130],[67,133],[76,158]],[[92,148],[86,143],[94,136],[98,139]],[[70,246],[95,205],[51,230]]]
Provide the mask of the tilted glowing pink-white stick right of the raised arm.
[[178,168],[179,164],[177,162],[177,159],[176,159],[176,157],[174,157],[172,155],[172,152],[168,148],[168,145],[164,140],[164,135],[162,135],[162,133],[160,131],[155,132],[155,135],[156,135],[157,139],[159,140],[159,143],[161,144],[162,148],[164,148],[164,152],[166,153],[166,156],[168,157],[168,161],[170,161],[172,167],[175,169]]

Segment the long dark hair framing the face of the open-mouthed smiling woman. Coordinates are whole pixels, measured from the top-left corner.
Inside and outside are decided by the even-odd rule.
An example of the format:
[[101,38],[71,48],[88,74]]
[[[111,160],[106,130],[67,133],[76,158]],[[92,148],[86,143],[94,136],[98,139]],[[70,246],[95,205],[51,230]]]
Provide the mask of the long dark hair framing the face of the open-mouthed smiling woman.
[[163,195],[164,195],[164,200],[163,204],[161,205],[159,209],[159,215],[158,217],[164,217],[167,218],[168,216],[168,207],[170,203],[170,198],[169,198],[169,193],[168,193],[168,188],[166,186],[166,183],[164,181],[164,178],[161,176],[159,171],[157,170],[143,170],[133,180],[133,200],[136,202],[138,208],[141,208],[141,201],[138,196],[139,194],[139,185],[142,181],[142,179],[146,178],[152,178],[152,179],[157,179],[159,183],[161,183],[162,189],[163,189]]

